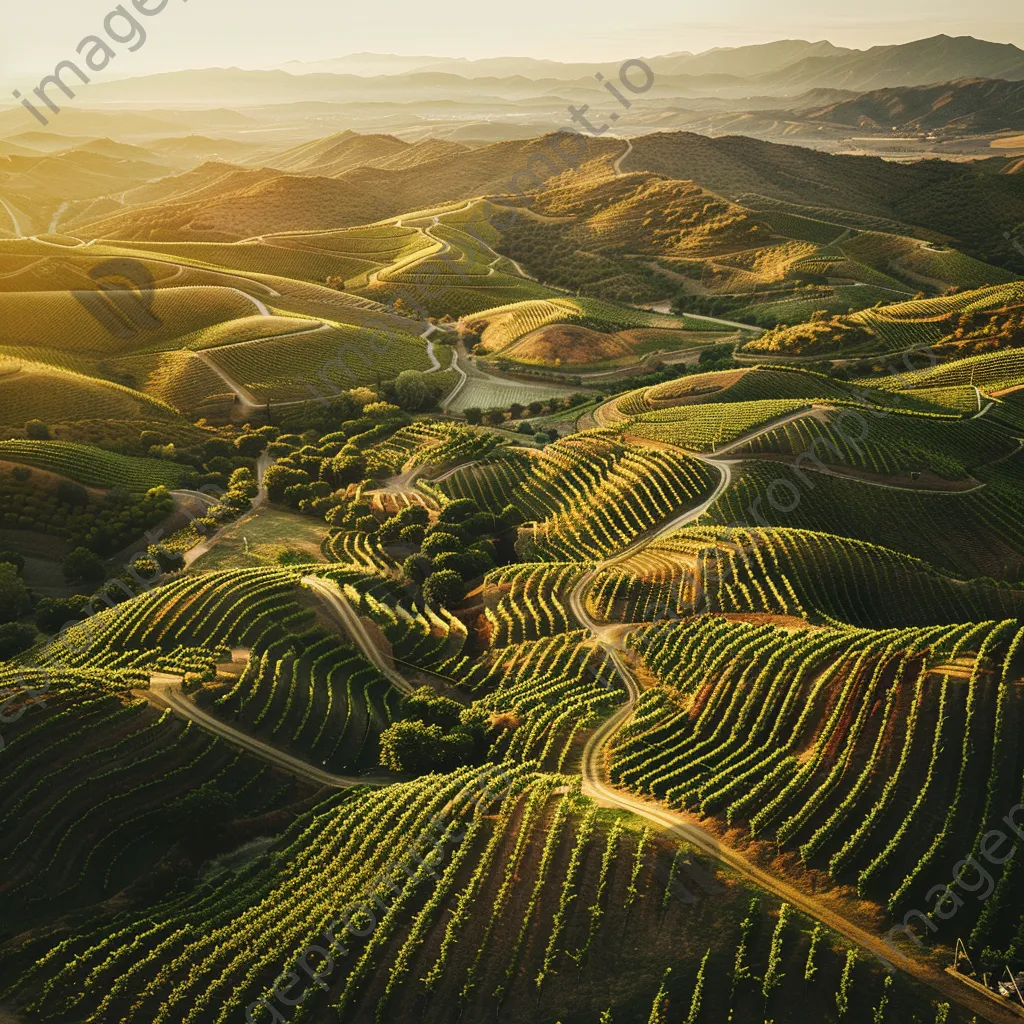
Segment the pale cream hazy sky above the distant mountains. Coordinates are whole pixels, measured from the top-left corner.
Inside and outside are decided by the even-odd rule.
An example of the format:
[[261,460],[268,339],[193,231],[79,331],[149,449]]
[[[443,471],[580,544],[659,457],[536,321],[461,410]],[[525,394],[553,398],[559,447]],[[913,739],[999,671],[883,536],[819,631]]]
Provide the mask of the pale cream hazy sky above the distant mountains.
[[[124,0],[131,9],[129,0]],[[155,6],[158,0],[148,0]],[[116,0],[11,4],[0,39],[0,80],[75,57],[101,32]],[[197,67],[261,68],[361,50],[440,56],[504,54],[607,60],[778,38],[846,46],[906,42],[944,32],[1024,46],[1017,0],[168,0],[144,19],[147,39],[120,47],[100,73],[121,78]],[[97,79],[99,75],[97,75]]]

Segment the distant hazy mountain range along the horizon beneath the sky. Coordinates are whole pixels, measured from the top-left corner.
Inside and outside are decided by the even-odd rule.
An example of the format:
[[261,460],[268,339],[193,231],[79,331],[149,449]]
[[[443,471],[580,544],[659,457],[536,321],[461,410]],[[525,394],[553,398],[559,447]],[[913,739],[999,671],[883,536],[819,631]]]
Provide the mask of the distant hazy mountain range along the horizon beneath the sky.
[[[297,101],[402,103],[459,100],[475,108],[536,101],[539,106],[607,100],[596,74],[617,76],[617,61],[581,65],[530,57],[426,59],[355,54],[315,65],[257,71],[207,68],[94,82],[81,102],[252,106]],[[1024,50],[945,35],[850,50],[825,41],[780,40],[705,53],[647,58],[656,89],[638,105],[672,97],[792,97],[810,89],[866,92],[954,79],[1024,80]],[[655,100],[656,95],[656,100]],[[15,112],[18,113],[18,112]]]

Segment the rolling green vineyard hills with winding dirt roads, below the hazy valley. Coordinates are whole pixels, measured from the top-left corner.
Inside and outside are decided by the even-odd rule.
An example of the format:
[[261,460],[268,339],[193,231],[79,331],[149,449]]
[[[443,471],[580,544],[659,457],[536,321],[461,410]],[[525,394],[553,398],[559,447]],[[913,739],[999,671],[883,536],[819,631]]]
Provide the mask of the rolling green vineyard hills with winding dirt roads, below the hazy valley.
[[0,241],[0,1019],[1020,1019],[1020,285],[671,141]]

